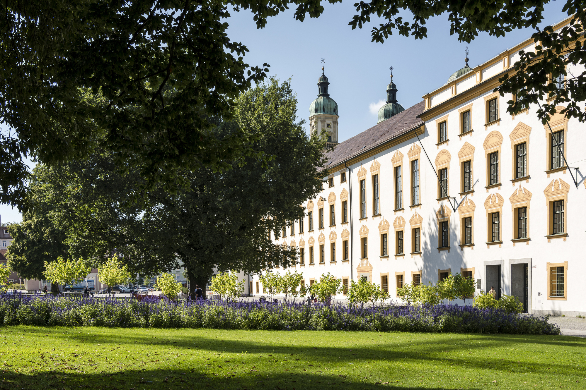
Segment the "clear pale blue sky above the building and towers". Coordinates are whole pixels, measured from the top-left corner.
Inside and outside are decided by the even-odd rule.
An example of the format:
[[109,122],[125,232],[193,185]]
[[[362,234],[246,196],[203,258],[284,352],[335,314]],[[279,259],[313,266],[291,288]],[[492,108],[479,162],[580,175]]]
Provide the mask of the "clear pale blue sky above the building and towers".
[[[231,12],[228,36],[248,47],[244,57],[250,65],[271,65],[269,75],[281,80],[292,77],[297,93],[299,118],[307,118],[309,104],[317,95],[317,80],[321,75],[320,59],[325,62],[325,74],[330,81],[330,96],[338,102],[340,142],[376,124],[376,109],[386,100],[389,66],[394,67],[398,102],[404,108],[421,101],[421,97],[445,84],[454,71],[464,66],[464,49],[469,49],[469,64],[474,67],[529,38],[532,30],[515,30],[505,37],[479,35],[471,43],[460,43],[449,35],[445,15],[430,20],[428,37],[393,35],[384,44],[370,42],[376,18],[362,29],[352,30],[348,22],[355,15],[355,1],[327,4],[318,19],[299,22],[294,10],[269,18],[264,29],[256,29],[250,11]],[[554,1],[546,7],[543,25],[563,20],[565,1]],[[410,20],[405,15],[406,20]],[[0,205],[2,221],[21,221],[18,210]]]

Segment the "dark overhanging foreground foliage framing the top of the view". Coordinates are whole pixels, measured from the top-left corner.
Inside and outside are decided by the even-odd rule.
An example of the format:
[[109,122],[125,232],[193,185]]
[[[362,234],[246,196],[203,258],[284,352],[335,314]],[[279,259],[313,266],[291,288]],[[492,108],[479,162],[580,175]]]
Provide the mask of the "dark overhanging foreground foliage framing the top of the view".
[[[341,0],[328,0],[331,3]],[[471,42],[479,32],[502,36],[533,28],[537,53],[527,54],[503,77],[500,92],[521,90],[526,102],[552,96],[540,118],[556,105],[584,121],[584,4],[567,0],[564,12],[576,16],[560,32],[537,29],[551,0],[372,0],[355,4],[352,28],[371,16],[372,39],[384,42],[394,32],[423,39],[425,22],[447,13],[450,32]],[[250,155],[252,139],[244,128],[225,138],[214,136],[211,117],[231,118],[231,104],[251,81],[262,80],[268,65],[249,67],[246,46],[226,35],[229,11],[250,10],[258,28],[267,18],[295,6],[295,18],[316,18],[322,0],[0,0],[0,122],[10,129],[0,139],[0,201],[26,207],[26,165],[35,156],[55,165],[91,154],[97,146],[113,150],[115,164],[137,162],[153,188],[188,185],[182,172],[205,165],[228,169]],[[405,20],[406,16],[413,20]],[[565,76],[564,88],[550,81]],[[176,93],[165,91],[173,88]],[[91,105],[83,91],[101,93]],[[510,102],[509,111],[521,105]]]

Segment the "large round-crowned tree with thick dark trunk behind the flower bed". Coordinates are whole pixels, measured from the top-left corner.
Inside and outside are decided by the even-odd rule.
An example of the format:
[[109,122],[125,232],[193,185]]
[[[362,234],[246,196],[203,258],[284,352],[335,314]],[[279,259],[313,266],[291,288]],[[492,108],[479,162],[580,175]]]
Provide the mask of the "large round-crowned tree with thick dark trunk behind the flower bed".
[[[259,158],[217,172],[200,169],[189,176],[189,190],[152,193],[144,215],[145,232],[156,237],[142,242],[145,251],[182,261],[190,280],[205,290],[214,269],[258,273],[289,266],[295,248],[276,245],[271,231],[280,231],[304,215],[300,206],[323,186],[326,159],[323,136],[305,134],[297,121],[297,99],[289,81],[271,78],[236,101],[236,121],[220,121],[217,131],[241,129],[254,134],[256,150],[274,155],[268,166]],[[148,221],[148,222],[147,222]]]

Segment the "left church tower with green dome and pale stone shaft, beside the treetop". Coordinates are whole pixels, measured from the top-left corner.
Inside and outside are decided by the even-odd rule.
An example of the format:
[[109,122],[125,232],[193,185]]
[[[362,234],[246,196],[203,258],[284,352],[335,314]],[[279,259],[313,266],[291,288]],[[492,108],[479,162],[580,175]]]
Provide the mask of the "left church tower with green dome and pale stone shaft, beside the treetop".
[[322,59],[322,76],[318,79],[318,97],[309,106],[309,128],[317,134],[325,129],[328,132],[326,149],[330,149],[338,145],[338,103],[329,97],[329,81],[323,71]]

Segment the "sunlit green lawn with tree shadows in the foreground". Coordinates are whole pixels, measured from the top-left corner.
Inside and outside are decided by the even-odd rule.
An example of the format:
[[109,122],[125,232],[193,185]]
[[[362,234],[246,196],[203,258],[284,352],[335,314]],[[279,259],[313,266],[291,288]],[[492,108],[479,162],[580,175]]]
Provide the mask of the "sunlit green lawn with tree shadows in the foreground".
[[586,339],[0,327],[0,389],[586,388]]

